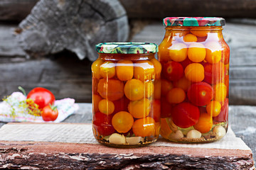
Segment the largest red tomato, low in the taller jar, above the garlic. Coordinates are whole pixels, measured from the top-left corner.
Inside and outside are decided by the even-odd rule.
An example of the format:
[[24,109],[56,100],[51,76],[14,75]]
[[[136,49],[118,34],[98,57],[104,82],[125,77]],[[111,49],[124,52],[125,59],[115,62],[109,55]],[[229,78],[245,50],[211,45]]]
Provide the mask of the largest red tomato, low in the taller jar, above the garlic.
[[198,107],[191,103],[179,103],[174,106],[171,113],[171,118],[174,124],[180,128],[188,128],[198,123],[200,112]]

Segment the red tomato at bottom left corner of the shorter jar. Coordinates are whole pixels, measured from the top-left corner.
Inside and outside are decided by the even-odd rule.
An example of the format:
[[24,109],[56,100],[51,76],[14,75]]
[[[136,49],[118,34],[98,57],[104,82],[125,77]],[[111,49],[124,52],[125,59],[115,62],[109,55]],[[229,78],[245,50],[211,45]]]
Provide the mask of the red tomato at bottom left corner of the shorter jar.
[[100,135],[111,135],[115,132],[114,127],[112,126],[113,115],[114,114],[106,115],[100,112],[95,113],[95,115],[93,115],[93,128],[95,128]]

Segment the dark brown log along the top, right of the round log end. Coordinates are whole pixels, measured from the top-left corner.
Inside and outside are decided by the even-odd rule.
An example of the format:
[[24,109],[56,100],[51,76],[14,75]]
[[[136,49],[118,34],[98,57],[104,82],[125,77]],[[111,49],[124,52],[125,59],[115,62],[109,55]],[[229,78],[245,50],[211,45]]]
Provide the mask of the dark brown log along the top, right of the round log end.
[[223,16],[254,18],[254,0],[120,0],[129,18],[156,18],[166,16]]

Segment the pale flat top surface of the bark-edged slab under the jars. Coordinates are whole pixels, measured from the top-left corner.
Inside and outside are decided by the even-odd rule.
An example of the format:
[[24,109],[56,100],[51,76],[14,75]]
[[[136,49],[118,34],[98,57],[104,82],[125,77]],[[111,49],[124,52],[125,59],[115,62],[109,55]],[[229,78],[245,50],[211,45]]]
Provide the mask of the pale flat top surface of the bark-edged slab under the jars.
[[[0,141],[65,142],[100,145],[92,125],[84,123],[8,123],[0,129]],[[160,137],[150,146],[251,150],[229,127],[221,140],[206,144],[177,144]]]

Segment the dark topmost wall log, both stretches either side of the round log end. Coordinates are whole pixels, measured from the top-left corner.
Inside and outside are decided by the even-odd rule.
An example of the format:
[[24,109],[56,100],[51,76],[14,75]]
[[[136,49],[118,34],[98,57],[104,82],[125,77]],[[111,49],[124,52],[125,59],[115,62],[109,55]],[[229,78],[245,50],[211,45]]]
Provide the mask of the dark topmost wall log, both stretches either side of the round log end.
[[[0,21],[22,21],[39,0],[1,0]],[[166,16],[222,16],[255,18],[255,0],[119,0],[129,18]]]

